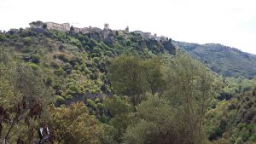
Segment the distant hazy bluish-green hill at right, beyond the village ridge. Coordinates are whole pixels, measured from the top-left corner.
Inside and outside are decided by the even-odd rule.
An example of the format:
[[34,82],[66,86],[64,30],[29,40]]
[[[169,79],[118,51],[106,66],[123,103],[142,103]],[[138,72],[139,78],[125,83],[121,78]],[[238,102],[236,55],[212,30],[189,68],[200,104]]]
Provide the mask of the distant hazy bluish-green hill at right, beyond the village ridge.
[[206,63],[212,71],[224,77],[253,78],[256,75],[256,55],[216,43],[197,44],[173,41],[173,44]]

